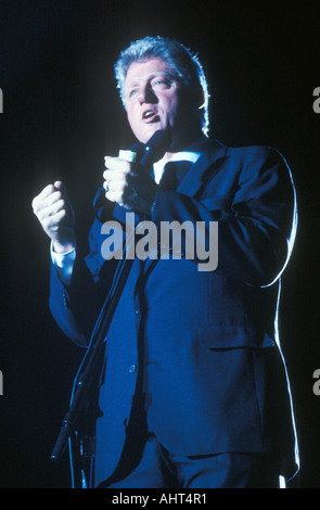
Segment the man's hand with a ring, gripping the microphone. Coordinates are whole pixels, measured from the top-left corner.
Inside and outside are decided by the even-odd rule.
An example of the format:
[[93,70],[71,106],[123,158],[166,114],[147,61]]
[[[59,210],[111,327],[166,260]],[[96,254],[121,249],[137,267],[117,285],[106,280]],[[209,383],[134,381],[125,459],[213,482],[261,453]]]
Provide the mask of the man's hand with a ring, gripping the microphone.
[[153,178],[139,168],[139,164],[120,157],[105,156],[103,173],[105,196],[135,213],[151,215],[157,184]]

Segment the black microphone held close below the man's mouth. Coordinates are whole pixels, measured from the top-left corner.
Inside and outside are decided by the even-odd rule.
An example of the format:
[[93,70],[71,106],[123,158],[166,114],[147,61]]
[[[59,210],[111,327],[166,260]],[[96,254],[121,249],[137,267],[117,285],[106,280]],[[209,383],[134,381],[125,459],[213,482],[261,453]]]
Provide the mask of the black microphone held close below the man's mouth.
[[[138,171],[139,166],[143,171],[150,170],[152,165],[165,155],[170,141],[171,137],[169,132],[167,130],[159,129],[152,135],[145,144],[141,142],[133,143],[133,145],[130,146],[130,151],[137,153],[136,163],[138,163]],[[105,190],[101,187],[98,189],[93,199],[93,211],[95,217],[102,222],[104,221],[103,213],[105,205]]]

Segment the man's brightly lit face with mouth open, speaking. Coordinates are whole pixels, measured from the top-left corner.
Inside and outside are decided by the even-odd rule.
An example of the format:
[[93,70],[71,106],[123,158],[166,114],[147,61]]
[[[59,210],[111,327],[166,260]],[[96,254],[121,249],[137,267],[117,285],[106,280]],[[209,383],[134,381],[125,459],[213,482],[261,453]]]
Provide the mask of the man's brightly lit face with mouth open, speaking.
[[159,59],[133,62],[126,76],[125,103],[137,139],[146,143],[158,129],[169,129],[172,138],[183,130],[190,106],[182,95],[180,81],[166,62]]

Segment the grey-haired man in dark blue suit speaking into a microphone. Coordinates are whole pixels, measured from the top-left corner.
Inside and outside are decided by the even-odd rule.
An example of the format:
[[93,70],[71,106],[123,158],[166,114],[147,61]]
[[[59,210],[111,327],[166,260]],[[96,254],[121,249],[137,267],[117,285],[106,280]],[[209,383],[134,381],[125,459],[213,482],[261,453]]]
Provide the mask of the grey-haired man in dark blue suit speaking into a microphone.
[[[88,345],[111,271],[103,256],[111,202],[112,225],[124,231],[132,212],[136,225],[148,220],[157,232],[188,221],[207,248],[218,225],[218,260],[200,270],[199,252],[187,256],[184,240],[176,256],[132,262],[104,332],[94,486],[278,487],[279,475],[297,468],[277,327],[295,235],[290,170],[271,148],[230,149],[207,138],[204,73],[182,44],[146,37],[121,53],[115,71],[139,142],[159,130],[169,142],[150,171],[105,157],[105,197],[87,256],[62,182],[34,200],[51,239],[55,320]],[[175,170],[177,161],[189,168]]]

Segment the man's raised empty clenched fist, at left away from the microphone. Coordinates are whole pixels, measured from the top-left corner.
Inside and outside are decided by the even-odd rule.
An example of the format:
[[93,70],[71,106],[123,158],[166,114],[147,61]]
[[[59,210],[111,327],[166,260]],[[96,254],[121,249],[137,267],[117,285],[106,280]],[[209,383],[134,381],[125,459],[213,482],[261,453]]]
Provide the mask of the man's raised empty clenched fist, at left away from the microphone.
[[47,186],[33,200],[33,209],[56,253],[75,247],[75,213],[63,182]]

